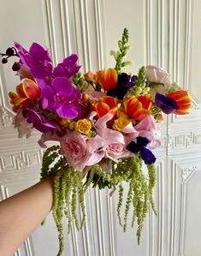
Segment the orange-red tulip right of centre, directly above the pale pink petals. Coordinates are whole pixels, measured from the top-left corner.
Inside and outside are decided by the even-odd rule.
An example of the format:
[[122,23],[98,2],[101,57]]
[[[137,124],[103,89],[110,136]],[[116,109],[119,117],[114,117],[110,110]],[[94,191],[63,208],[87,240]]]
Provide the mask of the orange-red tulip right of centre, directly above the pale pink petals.
[[126,98],[124,101],[127,116],[132,116],[134,121],[141,121],[151,114],[152,98],[150,94]]

